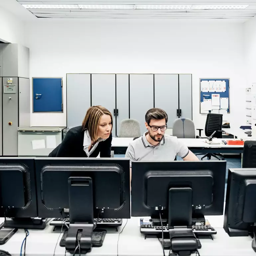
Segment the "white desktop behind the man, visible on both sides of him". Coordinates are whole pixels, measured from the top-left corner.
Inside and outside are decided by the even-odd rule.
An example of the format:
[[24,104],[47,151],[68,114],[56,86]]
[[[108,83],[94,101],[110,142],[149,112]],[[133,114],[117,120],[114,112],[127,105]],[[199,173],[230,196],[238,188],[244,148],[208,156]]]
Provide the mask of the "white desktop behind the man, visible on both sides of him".
[[[243,148],[241,145],[207,144],[206,139],[178,139],[188,147],[198,148]],[[223,139],[215,139],[221,143]],[[112,138],[112,147],[128,147],[133,138]]]

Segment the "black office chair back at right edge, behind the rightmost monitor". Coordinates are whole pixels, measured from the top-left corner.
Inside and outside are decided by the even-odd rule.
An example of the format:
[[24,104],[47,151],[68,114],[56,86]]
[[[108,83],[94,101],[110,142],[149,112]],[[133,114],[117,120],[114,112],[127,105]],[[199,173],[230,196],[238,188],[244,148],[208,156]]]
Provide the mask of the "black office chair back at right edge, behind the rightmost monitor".
[[242,168],[256,168],[256,141],[244,142]]

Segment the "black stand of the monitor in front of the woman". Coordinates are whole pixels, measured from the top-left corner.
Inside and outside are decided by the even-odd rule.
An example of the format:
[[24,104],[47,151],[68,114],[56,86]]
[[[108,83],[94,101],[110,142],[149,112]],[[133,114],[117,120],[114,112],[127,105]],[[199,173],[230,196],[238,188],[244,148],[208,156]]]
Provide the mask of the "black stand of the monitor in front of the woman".
[[[92,248],[93,189],[90,177],[68,178],[69,228],[65,248],[70,253],[86,254]],[[103,242],[104,234],[99,233]],[[78,250],[80,245],[80,251]],[[76,252],[75,252],[76,250]]]

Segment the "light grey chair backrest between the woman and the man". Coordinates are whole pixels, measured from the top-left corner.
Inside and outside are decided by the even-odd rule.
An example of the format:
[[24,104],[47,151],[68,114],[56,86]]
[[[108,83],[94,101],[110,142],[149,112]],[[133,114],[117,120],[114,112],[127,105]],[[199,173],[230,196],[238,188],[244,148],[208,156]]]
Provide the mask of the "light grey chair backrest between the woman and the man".
[[140,137],[140,123],[135,119],[124,119],[119,125],[119,138]]

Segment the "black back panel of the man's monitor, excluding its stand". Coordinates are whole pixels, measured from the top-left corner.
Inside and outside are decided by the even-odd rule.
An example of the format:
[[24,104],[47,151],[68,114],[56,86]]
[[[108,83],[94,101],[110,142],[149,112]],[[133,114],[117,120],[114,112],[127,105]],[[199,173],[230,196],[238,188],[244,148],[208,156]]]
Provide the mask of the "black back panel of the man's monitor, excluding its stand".
[[[168,210],[170,188],[192,188],[193,213],[222,215],[225,161],[132,162],[132,216]],[[165,214],[168,216],[168,212]]]

